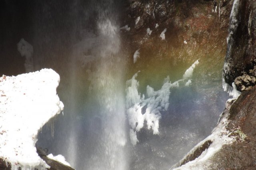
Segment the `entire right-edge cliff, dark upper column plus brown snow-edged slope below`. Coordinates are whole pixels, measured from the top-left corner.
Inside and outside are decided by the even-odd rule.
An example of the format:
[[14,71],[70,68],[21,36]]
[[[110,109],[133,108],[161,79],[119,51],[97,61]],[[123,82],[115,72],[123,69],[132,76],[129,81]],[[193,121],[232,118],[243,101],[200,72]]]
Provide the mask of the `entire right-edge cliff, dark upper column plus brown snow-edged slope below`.
[[[229,85],[236,85],[241,95],[234,101],[228,101],[226,108],[217,127],[221,124],[228,131],[218,138],[226,136],[224,140],[231,139],[232,142],[222,145],[220,150],[205,156],[210,152],[209,148],[198,144],[187,156],[184,157],[176,167],[177,169],[246,169],[256,168],[256,2],[235,0],[230,15],[230,26],[228,36],[228,47],[224,64],[224,80]],[[226,117],[227,121],[222,120]],[[214,133],[214,131],[213,131]],[[208,137],[209,138],[209,137]],[[207,139],[207,138],[206,138]],[[223,140],[222,140],[223,141]],[[213,142],[214,143],[214,142]],[[196,154],[195,151],[200,154]],[[192,156],[191,156],[192,155]],[[182,162],[188,162],[185,165]],[[183,165],[183,166],[182,166]]]

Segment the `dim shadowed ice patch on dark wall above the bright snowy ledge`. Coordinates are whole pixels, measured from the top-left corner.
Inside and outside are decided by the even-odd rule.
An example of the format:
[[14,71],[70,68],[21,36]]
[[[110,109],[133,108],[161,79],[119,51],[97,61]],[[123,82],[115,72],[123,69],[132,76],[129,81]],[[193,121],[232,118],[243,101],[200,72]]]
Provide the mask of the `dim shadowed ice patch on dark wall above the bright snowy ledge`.
[[20,52],[20,55],[26,58],[24,63],[26,72],[29,73],[34,71],[33,46],[22,38],[17,44],[17,49]]

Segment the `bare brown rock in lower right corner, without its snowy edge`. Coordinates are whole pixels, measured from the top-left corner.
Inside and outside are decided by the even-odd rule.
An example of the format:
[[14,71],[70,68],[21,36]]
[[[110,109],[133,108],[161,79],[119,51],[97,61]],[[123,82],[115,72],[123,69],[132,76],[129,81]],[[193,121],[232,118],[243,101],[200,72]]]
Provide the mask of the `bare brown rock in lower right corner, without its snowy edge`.
[[[256,88],[243,92],[230,108],[230,123],[227,129],[236,137],[231,145],[225,145],[212,157],[213,169],[246,169],[256,168]],[[246,134],[245,140],[234,133],[240,129]]]

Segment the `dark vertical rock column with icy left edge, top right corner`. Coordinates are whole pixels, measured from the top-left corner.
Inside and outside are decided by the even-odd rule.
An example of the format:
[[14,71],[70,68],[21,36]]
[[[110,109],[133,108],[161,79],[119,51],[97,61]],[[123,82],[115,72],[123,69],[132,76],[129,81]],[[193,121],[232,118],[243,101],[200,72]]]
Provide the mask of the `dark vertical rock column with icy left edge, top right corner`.
[[[237,3],[238,13],[230,20],[230,37],[224,66],[224,79],[230,85],[236,77],[245,73],[255,77],[250,70],[256,65],[256,2],[238,0]],[[248,86],[238,87],[242,90]]]

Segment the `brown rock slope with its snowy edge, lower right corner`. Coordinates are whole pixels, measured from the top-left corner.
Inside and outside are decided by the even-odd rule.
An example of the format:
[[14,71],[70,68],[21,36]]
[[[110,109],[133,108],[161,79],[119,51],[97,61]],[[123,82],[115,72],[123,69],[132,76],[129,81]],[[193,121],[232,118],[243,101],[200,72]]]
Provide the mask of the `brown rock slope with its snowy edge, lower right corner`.
[[[254,170],[256,168],[255,96],[256,88],[253,87],[243,92],[236,101],[228,101],[220,122],[212,134],[204,140],[210,141],[210,144],[200,142],[180,163],[176,164],[175,167],[178,167],[176,169]],[[226,121],[223,121],[224,119]],[[223,129],[224,131],[221,131]],[[216,131],[220,133],[213,140]],[[217,152],[214,151],[218,148],[214,142],[224,142]],[[184,162],[188,163],[184,164]]]

